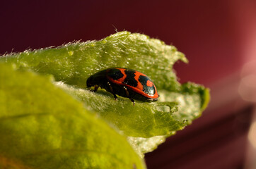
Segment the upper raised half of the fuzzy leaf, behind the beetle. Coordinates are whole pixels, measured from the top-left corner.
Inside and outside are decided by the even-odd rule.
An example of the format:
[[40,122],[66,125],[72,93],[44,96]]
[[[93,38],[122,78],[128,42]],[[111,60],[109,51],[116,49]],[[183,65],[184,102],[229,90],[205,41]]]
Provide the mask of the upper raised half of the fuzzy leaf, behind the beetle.
[[1,58],[16,63],[18,68],[54,75],[79,88],[86,87],[90,75],[110,67],[124,67],[146,73],[158,89],[178,89],[173,73],[175,61],[187,62],[174,46],[165,45],[146,35],[117,32],[100,41],[76,42],[52,49],[24,51]]

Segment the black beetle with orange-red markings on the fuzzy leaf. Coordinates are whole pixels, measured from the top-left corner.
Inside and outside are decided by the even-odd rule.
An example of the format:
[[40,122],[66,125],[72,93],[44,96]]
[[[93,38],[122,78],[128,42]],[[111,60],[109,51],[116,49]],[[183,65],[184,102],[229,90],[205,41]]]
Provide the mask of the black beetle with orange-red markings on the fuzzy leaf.
[[87,87],[99,87],[114,95],[128,97],[133,104],[139,101],[157,101],[158,92],[152,80],[137,70],[128,68],[108,68],[91,75],[86,81]]

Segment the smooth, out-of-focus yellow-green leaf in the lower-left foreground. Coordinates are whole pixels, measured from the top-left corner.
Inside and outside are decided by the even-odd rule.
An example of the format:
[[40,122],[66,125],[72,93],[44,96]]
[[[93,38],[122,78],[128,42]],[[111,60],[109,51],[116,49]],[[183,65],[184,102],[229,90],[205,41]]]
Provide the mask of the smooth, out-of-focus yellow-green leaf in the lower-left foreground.
[[52,79],[0,63],[0,168],[145,168],[126,137]]

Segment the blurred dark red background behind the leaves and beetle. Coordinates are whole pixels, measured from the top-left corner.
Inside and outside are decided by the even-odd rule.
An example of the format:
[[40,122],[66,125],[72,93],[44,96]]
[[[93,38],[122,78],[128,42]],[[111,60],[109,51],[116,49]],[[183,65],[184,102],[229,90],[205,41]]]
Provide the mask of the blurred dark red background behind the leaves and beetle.
[[148,168],[256,168],[256,1],[1,1],[0,55],[139,32],[173,44],[180,82],[211,88],[202,118],[146,154]]

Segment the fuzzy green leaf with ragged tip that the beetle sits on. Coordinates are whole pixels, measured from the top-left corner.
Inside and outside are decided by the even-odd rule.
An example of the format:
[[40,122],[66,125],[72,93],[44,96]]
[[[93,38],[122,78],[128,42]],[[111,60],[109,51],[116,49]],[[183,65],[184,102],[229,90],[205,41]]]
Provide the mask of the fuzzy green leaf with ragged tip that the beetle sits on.
[[[167,137],[192,123],[209,102],[209,89],[177,81],[173,64],[178,60],[187,62],[184,54],[174,46],[130,32],[117,32],[100,41],[70,43],[0,58],[21,70],[53,75],[55,84],[83,101],[86,109],[134,137],[131,144],[139,152],[151,151],[163,140],[150,137]],[[132,68],[148,75],[156,84],[159,100],[153,103],[137,101],[132,106],[129,99],[119,97],[115,101],[112,94],[103,89],[95,93],[86,89],[90,75],[111,67]],[[147,142],[152,146],[146,150],[143,145]]]

